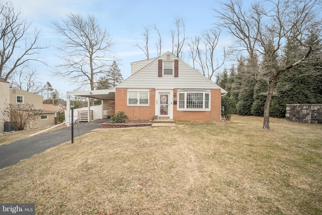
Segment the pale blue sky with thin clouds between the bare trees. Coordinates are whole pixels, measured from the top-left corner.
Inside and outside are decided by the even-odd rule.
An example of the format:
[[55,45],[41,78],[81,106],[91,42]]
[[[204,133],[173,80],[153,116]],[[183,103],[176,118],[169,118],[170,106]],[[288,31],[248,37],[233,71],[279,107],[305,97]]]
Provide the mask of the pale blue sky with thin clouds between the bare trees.
[[[31,30],[38,28],[42,37],[40,45],[51,45],[42,50],[39,57],[48,66],[42,63],[32,63],[40,81],[50,82],[52,87],[65,96],[67,91],[74,91],[76,86],[68,80],[56,78],[52,71],[59,63],[58,37],[52,22],[66,19],[70,13],[79,13],[84,17],[94,15],[101,28],[106,28],[115,43],[113,54],[116,55],[119,68],[124,79],[131,75],[131,62],[146,59],[144,52],[135,46],[136,43],[144,46],[141,32],[148,25],[156,25],[162,35],[162,54],[171,51],[170,31],[173,29],[176,18],[186,21],[186,36],[189,38],[201,35],[214,27],[215,14],[213,9],[220,7],[217,1],[211,0],[12,0],[13,5],[22,11],[21,18],[32,22]],[[156,57],[155,40],[151,31],[150,58]],[[230,42],[226,35],[222,35],[218,48]],[[220,46],[220,47],[219,47]],[[185,48],[188,51],[188,48]],[[218,50],[219,52],[219,50]],[[188,54],[184,61],[189,62]]]

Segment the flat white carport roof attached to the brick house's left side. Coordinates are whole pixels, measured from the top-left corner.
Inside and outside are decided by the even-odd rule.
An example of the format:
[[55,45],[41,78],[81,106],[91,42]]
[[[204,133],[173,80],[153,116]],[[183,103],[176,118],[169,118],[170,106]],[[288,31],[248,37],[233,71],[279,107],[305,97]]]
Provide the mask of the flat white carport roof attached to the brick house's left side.
[[81,96],[103,100],[115,100],[115,88],[111,90],[71,91],[68,96]]

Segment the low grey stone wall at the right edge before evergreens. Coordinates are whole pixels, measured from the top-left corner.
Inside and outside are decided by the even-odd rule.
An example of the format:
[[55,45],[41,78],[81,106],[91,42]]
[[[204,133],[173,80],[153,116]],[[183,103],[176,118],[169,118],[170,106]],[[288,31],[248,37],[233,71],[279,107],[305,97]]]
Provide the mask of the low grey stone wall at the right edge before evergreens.
[[322,104],[287,104],[286,121],[322,124]]

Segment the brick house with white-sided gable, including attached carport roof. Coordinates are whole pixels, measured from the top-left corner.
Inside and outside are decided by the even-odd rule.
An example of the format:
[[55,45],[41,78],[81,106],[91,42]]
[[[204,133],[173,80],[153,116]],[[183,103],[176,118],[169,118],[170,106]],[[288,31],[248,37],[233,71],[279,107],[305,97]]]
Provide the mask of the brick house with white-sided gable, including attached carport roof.
[[131,69],[111,90],[67,92],[67,109],[70,96],[86,96],[114,101],[114,112],[124,111],[129,120],[220,120],[227,92],[171,52],[132,62]]

